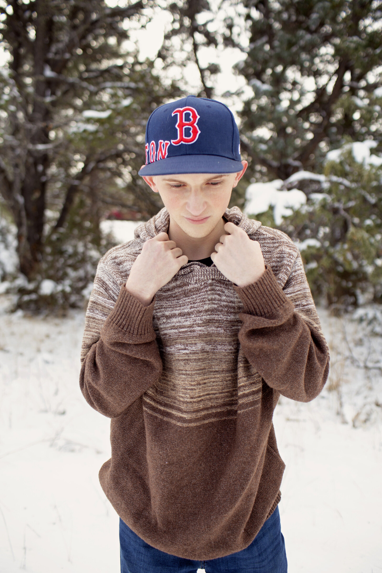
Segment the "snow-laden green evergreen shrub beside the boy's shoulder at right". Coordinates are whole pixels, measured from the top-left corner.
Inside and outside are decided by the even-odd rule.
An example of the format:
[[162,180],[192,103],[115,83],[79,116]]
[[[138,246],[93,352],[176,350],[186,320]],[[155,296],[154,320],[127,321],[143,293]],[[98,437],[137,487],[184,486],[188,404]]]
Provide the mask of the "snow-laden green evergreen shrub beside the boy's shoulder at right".
[[[376,147],[372,140],[346,142],[328,152],[322,174],[298,171],[247,188],[246,213],[292,238],[313,295],[338,311],[382,303],[382,158],[371,153]],[[291,195],[288,203],[297,189],[306,201],[298,204]]]

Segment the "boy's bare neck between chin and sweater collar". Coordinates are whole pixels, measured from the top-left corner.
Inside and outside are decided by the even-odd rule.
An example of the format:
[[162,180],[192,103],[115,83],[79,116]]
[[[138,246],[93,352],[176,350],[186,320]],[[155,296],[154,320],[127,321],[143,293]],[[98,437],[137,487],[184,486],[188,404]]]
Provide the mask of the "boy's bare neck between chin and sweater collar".
[[170,219],[168,227],[168,238],[175,241],[176,246],[182,249],[190,261],[199,261],[200,259],[210,257],[215,251],[215,245],[220,241],[220,237],[225,234],[224,226],[226,221],[221,218],[211,233],[206,237],[190,237],[179,225]]

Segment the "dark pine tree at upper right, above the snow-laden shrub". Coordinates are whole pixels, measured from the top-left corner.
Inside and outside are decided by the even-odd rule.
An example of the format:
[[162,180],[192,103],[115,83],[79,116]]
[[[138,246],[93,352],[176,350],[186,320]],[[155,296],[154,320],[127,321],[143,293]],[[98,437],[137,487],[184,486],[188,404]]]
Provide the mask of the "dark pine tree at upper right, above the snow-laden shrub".
[[[319,171],[329,149],[382,135],[380,2],[246,0],[249,46],[237,66],[253,96],[242,148],[256,178]],[[230,32],[226,44],[239,45]],[[249,171],[249,172],[250,172]]]

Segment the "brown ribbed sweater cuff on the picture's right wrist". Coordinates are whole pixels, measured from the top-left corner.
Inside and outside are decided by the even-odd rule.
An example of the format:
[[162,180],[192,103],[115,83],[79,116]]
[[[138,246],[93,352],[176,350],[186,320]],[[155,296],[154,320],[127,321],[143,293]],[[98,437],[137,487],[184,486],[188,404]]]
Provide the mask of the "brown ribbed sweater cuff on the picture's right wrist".
[[250,315],[272,315],[288,300],[270,266],[258,281],[243,287],[234,285],[234,289],[242,300],[243,312]]

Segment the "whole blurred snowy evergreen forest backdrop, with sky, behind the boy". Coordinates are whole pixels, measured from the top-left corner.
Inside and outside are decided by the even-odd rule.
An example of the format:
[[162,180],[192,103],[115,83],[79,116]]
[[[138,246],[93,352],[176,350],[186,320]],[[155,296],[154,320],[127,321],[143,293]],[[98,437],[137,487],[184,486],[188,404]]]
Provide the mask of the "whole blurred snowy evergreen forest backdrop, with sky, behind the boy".
[[231,205],[296,242],[316,300],[382,303],[381,32],[380,0],[0,0],[1,292],[84,305],[100,222],[162,207],[149,114],[193,93],[235,112]]

